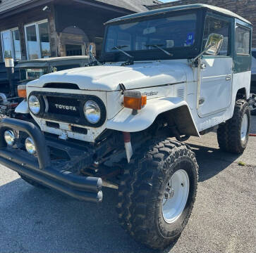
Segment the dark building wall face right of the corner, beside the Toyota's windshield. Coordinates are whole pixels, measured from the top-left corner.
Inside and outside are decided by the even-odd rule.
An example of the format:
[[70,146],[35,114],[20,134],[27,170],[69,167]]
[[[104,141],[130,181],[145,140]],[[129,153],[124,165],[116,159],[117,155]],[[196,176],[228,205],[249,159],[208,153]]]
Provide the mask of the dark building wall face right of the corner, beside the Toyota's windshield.
[[[88,6],[55,6],[56,32],[59,35],[59,55],[66,56],[65,44],[89,46],[97,45],[95,53],[99,56],[102,45],[97,44],[97,38],[104,37],[104,22],[117,18],[122,13],[107,11],[101,8]],[[76,27],[81,34],[64,33],[67,27]]]

